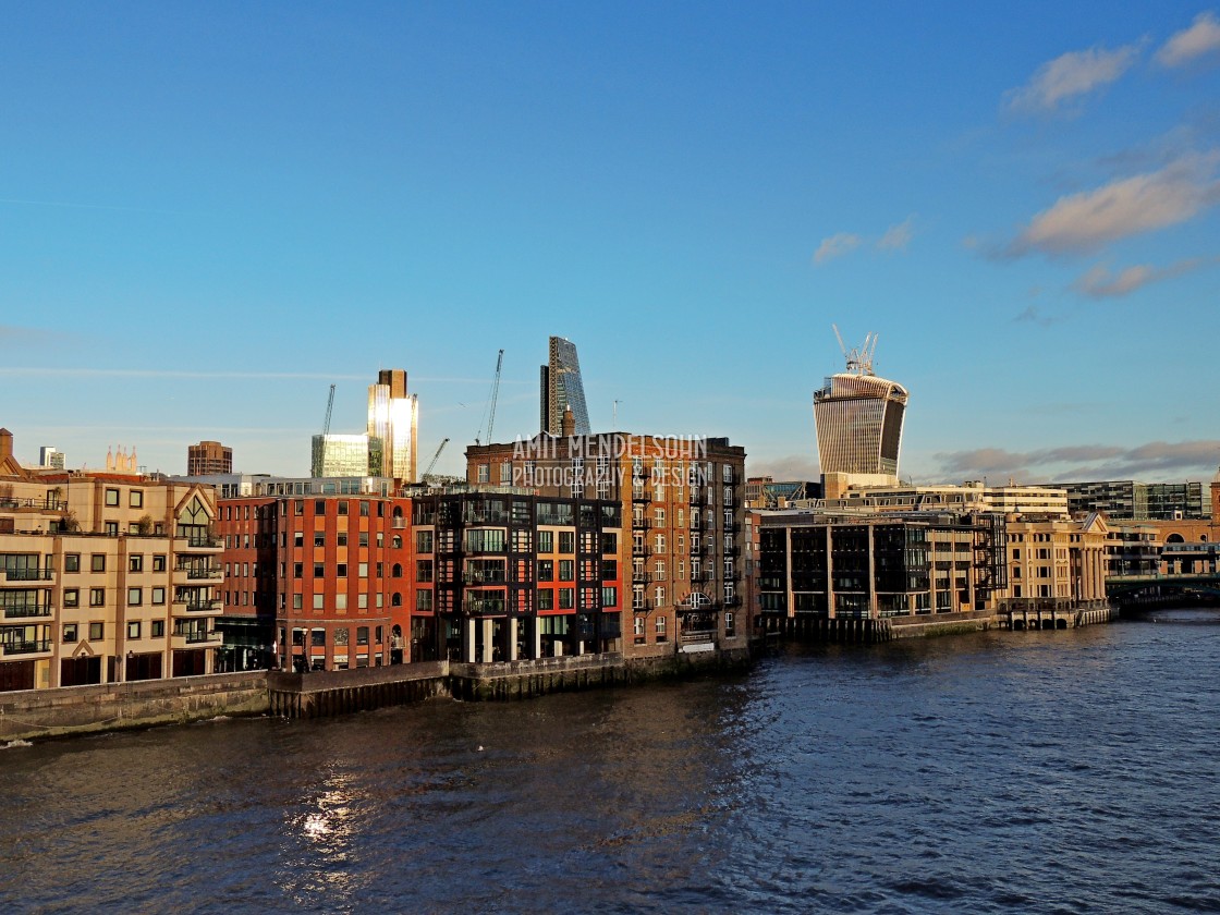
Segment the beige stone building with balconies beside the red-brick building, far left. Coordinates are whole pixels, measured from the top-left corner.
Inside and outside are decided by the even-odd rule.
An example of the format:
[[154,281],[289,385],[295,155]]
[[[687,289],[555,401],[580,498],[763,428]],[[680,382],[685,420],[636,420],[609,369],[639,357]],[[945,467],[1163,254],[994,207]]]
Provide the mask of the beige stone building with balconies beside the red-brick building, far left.
[[27,470],[0,429],[0,689],[212,672],[215,490],[134,462]]

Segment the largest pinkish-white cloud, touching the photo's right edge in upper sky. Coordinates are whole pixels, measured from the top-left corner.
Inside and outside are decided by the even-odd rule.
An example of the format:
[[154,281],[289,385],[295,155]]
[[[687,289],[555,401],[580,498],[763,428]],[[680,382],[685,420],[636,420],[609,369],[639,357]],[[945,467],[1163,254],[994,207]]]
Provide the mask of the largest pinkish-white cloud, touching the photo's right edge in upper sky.
[[1008,254],[1078,254],[1185,222],[1220,199],[1216,156],[1191,156],[1158,172],[1061,196],[1035,216]]

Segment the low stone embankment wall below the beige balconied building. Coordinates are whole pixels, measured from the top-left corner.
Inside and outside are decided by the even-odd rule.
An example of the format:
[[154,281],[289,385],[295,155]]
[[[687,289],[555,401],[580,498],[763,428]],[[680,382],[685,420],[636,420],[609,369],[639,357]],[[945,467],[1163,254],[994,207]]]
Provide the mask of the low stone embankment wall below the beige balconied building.
[[267,711],[265,671],[0,693],[0,742]]

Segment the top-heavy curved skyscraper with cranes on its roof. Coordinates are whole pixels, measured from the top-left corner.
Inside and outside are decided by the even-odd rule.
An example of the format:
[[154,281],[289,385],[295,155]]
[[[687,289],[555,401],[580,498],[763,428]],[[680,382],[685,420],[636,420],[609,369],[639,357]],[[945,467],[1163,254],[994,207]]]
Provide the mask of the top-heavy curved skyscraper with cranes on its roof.
[[898,475],[906,389],[874,375],[842,372],[814,393],[822,473]]

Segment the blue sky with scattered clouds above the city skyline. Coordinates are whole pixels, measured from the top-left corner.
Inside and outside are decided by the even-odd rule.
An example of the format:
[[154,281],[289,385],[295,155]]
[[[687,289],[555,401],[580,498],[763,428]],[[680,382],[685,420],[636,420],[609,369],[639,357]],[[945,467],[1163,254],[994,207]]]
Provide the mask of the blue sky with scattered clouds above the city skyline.
[[401,367],[421,465],[597,429],[816,472],[880,334],[902,472],[1220,464],[1220,12],[1199,4],[10,4],[0,425],[304,473]]

